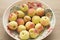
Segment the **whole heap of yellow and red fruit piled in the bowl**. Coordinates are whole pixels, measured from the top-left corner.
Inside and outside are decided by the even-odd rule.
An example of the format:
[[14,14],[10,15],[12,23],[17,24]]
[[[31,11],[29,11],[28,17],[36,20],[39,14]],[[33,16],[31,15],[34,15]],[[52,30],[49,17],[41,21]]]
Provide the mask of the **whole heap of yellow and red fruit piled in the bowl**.
[[7,27],[17,31],[20,39],[36,38],[50,25],[51,17],[52,11],[44,9],[41,3],[28,2],[9,14]]

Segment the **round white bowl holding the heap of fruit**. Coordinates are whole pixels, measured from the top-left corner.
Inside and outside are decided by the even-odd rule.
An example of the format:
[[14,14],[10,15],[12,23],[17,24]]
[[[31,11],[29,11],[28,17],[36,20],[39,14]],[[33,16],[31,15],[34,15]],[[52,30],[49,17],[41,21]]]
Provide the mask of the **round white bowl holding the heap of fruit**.
[[[27,2],[41,2],[41,3],[44,5],[45,8],[51,9],[46,3],[44,3],[44,2],[42,2],[42,1],[40,1],[40,0],[18,0],[18,1],[15,1],[14,3],[12,3],[12,4],[5,10],[5,12],[4,12],[4,14],[3,14],[3,27],[4,27],[5,31],[7,32],[7,34],[8,34],[9,36],[11,36],[12,38],[16,39],[16,40],[20,40],[20,39],[18,38],[18,34],[17,34],[16,32],[13,32],[13,31],[8,30],[8,28],[7,28],[8,16],[9,16],[9,13],[10,13],[10,9],[11,9],[12,7],[14,7],[15,5],[19,5],[19,4],[21,5],[21,4],[27,3]],[[52,9],[51,9],[51,10],[52,10]],[[32,39],[32,40],[42,40],[42,39],[46,38],[49,34],[51,34],[51,32],[52,32],[53,29],[54,29],[55,20],[56,20],[56,19],[55,19],[55,14],[54,14],[53,11],[52,11],[52,13],[53,13],[53,16],[52,16],[52,19],[51,19],[51,22],[50,22],[50,27],[49,27],[49,29],[44,30],[44,32],[43,32],[41,35],[39,35],[39,37],[37,37],[36,39]],[[31,39],[29,39],[29,40],[31,40]]]

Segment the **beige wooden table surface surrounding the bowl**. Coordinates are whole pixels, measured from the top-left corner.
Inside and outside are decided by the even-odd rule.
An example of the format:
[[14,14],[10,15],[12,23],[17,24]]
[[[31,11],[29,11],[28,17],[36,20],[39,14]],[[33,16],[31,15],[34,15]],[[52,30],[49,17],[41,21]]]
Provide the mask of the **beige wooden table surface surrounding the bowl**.
[[[2,16],[5,9],[17,0],[0,0],[0,40],[14,40],[4,30],[2,25]],[[53,32],[43,40],[60,40],[60,0],[41,0],[47,3],[55,12],[56,25]]]

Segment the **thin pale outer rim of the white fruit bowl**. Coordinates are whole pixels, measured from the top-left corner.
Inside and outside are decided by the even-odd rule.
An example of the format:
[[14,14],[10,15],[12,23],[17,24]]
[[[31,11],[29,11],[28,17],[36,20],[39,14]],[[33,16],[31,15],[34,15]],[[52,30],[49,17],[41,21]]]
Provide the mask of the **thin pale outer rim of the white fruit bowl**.
[[[13,4],[15,4],[15,3],[19,2],[19,1],[23,1],[23,0],[14,1],[14,2],[13,2],[12,4],[10,4],[10,5],[7,7],[7,9],[5,10],[5,12],[4,12],[4,14],[3,14],[3,21],[2,21],[3,27],[4,27],[4,15],[6,14],[6,11],[7,11]],[[43,4],[45,4],[47,7],[49,7],[46,3],[44,3],[44,2],[41,1],[41,0],[36,0],[36,1],[40,1],[41,3],[43,3]],[[49,9],[51,9],[51,7],[49,7]],[[52,10],[52,9],[51,9],[51,10]],[[53,10],[52,10],[52,13],[53,13],[53,16],[54,16],[54,27],[55,27],[56,18],[55,18],[55,14],[54,14]],[[54,27],[53,27],[53,29],[54,29]],[[5,29],[5,27],[4,27],[4,29]],[[18,40],[17,38],[15,38],[15,37],[13,37],[12,35],[10,35],[10,33],[7,32],[6,29],[5,29],[5,31],[6,31],[6,33],[7,33],[10,37],[12,37],[13,39]],[[48,35],[50,35],[52,31],[53,31],[53,30],[51,30],[44,38],[46,38]],[[43,38],[43,39],[44,39],[44,38]],[[41,40],[42,40],[42,39],[41,39]]]

